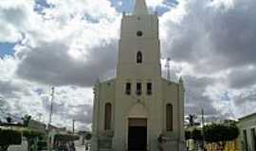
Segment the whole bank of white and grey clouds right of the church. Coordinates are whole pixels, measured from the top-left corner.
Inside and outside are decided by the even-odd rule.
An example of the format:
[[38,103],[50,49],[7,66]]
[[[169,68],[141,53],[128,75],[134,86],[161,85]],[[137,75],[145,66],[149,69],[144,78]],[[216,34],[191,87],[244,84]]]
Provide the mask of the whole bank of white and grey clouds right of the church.
[[[192,102],[187,109],[192,111],[190,108],[199,105],[225,117],[256,111],[246,111],[247,105],[253,105],[252,99],[246,99],[251,94],[240,95],[255,86],[256,4],[251,0],[179,0],[178,3],[160,17],[160,34],[163,57],[185,62],[192,69],[183,72],[185,77],[191,76],[186,81],[187,101]],[[210,81],[196,80],[200,78]],[[198,84],[198,92],[192,81]],[[234,104],[237,98],[245,98],[245,106],[237,107]]]

